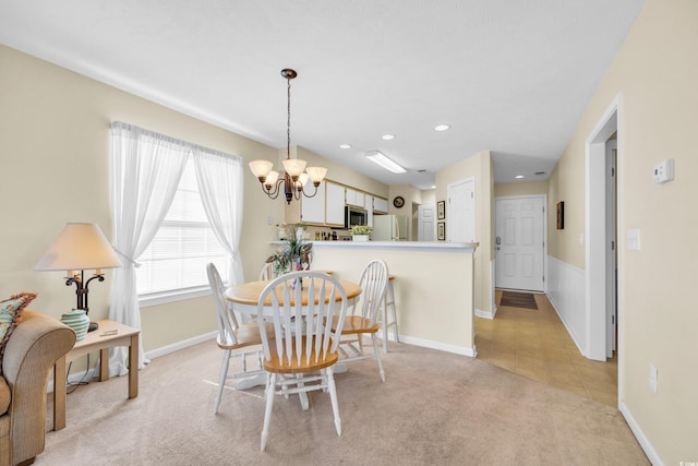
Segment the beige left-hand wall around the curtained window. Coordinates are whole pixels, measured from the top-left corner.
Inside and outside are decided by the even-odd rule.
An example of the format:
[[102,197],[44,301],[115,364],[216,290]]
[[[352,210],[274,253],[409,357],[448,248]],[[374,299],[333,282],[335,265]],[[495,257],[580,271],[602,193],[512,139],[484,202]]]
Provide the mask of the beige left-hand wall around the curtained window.
[[[33,267],[67,222],[95,222],[112,236],[109,204],[109,124],[121,120],[203,146],[274,159],[276,148],[146,101],[115,87],[0,46],[0,296],[37,291],[31,308],[60,319],[75,306],[74,287],[58,272]],[[258,273],[282,205],[269,201],[245,170],[242,259]],[[262,208],[263,207],[263,208]],[[91,316],[109,312],[111,273],[93,283]],[[144,308],[145,350],[214,331],[213,302],[201,298]],[[192,319],[196,312],[196,319]]]

